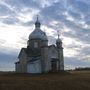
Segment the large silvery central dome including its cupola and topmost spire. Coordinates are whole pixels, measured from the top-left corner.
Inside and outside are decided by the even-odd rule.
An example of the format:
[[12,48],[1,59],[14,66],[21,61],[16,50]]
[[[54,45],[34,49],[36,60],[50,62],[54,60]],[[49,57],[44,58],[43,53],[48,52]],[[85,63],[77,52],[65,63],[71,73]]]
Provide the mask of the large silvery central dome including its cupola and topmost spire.
[[29,35],[29,40],[32,40],[32,39],[48,40],[46,33],[40,29],[40,25],[41,24],[38,21],[38,17],[37,17],[37,20],[35,22],[35,30]]

